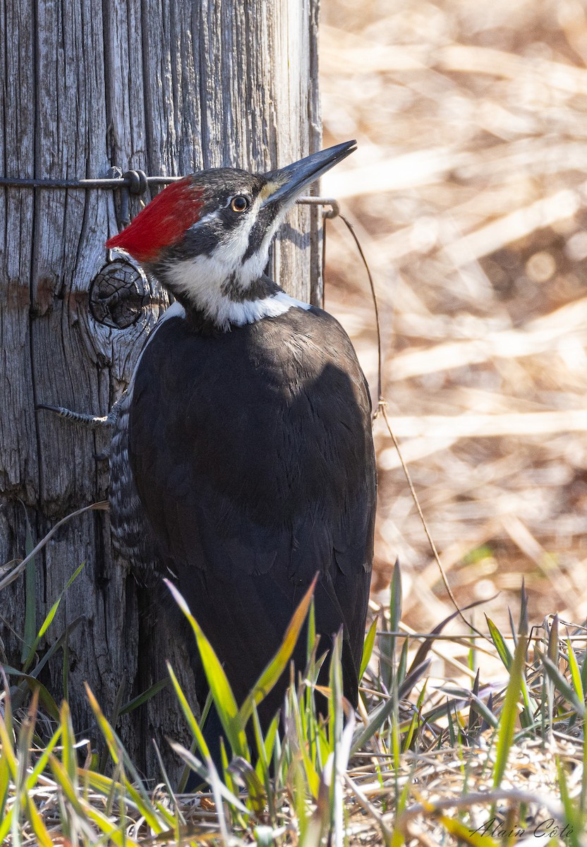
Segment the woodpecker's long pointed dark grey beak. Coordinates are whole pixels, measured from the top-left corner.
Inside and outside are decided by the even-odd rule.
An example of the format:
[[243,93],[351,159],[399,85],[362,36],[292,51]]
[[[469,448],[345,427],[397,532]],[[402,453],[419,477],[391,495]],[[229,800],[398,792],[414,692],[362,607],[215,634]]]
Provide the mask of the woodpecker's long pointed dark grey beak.
[[288,164],[285,168],[269,171],[269,174],[265,174],[267,185],[264,185],[261,191],[263,206],[274,203],[280,207],[288,206],[299,197],[306,185],[318,180],[318,177],[356,149],[357,141],[345,141],[344,144],[320,150],[298,162]]

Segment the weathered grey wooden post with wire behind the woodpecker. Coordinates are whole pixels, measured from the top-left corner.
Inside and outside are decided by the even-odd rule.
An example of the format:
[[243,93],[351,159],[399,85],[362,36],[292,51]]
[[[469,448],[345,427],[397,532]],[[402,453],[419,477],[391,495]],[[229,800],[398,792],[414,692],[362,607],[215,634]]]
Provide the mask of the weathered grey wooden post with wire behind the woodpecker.
[[[153,175],[268,169],[317,150],[317,17],[318,0],[8,0],[0,8],[2,175],[77,180],[106,176],[112,165]],[[130,208],[136,213],[138,201]],[[0,190],[0,567],[25,555],[27,522],[38,541],[69,512],[107,498],[108,432],[36,406],[108,412],[165,305],[152,292],[125,328],[91,312],[91,283],[108,263],[103,245],[119,218],[112,191]],[[274,266],[292,294],[319,302],[315,209],[292,211]],[[83,682],[112,715],[117,691],[124,702],[164,674],[169,634],[158,608],[139,615],[149,600],[114,556],[107,512],[67,523],[36,556],[26,591],[31,597],[35,586],[37,628],[81,562],[39,650],[79,619],[66,677],[75,728],[91,734]],[[14,667],[25,596],[24,576],[0,591],[0,662]],[[148,650],[139,645],[140,617],[151,621]],[[42,671],[57,699],[63,658],[58,650]],[[127,718],[121,728],[151,775],[151,735],[181,731],[179,717],[168,719],[173,696],[158,698],[147,719]]]

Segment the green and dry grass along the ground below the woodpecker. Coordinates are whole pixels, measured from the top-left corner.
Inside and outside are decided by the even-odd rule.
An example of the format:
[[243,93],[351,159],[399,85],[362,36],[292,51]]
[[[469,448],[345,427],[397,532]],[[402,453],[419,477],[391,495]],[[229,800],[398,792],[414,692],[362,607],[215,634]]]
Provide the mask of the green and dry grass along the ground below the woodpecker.
[[[341,639],[328,657],[315,643],[312,589],[240,707],[205,634],[174,594],[196,636],[210,700],[228,739],[223,767],[214,767],[171,667],[193,744],[188,749],[169,743],[186,772],[202,779],[195,794],[182,794],[170,783],[162,760],[161,783],[147,789],[90,689],[86,694],[107,751],[102,759],[75,735],[66,700],[47,709],[48,695],[34,675],[8,668],[14,684],[4,674],[0,843],[310,847],[328,841],[396,847],[510,844],[546,836],[551,843],[584,843],[587,662],[578,649],[584,628],[566,626],[562,635],[555,616],[534,635],[522,592],[517,627],[512,623],[509,633],[501,632],[488,619],[485,643],[468,635],[473,685],[435,679],[434,651],[442,650],[439,639],[450,619],[413,648],[402,631],[396,564],[389,606],[372,609],[356,717],[342,695]],[[276,717],[263,734],[258,703],[287,667],[306,619],[305,673],[287,689],[283,720]],[[483,681],[483,661],[476,667],[488,652],[503,664],[498,682]],[[313,698],[324,661],[326,720],[318,717]]]

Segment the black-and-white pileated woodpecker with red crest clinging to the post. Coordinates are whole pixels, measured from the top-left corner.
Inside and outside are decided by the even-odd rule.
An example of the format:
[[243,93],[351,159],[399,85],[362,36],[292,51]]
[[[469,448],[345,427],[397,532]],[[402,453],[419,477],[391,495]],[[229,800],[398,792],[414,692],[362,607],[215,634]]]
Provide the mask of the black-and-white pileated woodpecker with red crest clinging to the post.
[[[319,573],[320,644],[343,628],[344,692],[357,705],[376,497],[368,386],[335,318],[264,273],[287,209],[355,147],[266,174],[191,174],[107,245],[176,301],[119,408],[114,532],[131,558],[174,575],[238,701]],[[303,669],[305,645],[294,661]]]

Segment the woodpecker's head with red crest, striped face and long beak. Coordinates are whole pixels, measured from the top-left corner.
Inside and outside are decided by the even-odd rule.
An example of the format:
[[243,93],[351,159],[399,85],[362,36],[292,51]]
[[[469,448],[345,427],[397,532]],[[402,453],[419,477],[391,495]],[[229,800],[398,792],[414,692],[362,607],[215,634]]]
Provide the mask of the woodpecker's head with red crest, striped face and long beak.
[[234,304],[280,291],[258,284],[278,226],[303,189],[355,149],[346,141],[266,174],[198,171],[161,191],[107,246],[130,253],[184,306],[225,329],[244,314]]

